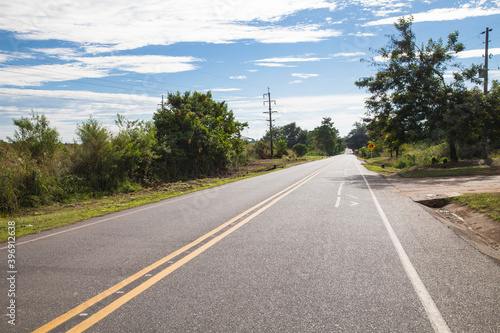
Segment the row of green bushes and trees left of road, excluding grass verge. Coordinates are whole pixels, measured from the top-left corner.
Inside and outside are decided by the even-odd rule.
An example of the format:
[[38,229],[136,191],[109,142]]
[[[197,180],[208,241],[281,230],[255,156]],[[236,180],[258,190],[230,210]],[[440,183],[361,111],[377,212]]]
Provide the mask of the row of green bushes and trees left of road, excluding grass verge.
[[218,174],[246,162],[241,131],[225,102],[210,92],[168,94],[151,121],[117,115],[118,133],[90,117],[63,144],[45,115],[14,120],[0,145],[0,211],[15,212],[153,182]]

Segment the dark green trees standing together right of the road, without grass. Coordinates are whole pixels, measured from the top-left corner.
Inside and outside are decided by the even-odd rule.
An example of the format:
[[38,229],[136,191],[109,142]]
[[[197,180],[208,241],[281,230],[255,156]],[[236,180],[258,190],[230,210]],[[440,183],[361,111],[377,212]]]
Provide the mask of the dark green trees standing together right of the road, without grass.
[[[457,145],[477,143],[478,155],[487,158],[500,136],[500,84],[494,81],[485,94],[478,87],[481,66],[456,61],[465,49],[458,32],[419,46],[412,23],[411,17],[395,23],[397,34],[376,51],[382,61],[371,62],[377,73],[355,83],[370,93],[363,119],[370,140],[396,156],[405,144],[446,142],[451,161],[459,159]],[[359,138],[361,127],[348,141]]]

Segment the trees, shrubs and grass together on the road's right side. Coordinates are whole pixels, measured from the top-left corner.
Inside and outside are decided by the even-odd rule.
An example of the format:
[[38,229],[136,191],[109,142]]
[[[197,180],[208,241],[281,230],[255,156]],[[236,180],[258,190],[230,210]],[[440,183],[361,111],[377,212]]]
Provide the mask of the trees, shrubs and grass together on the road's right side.
[[[365,166],[401,177],[500,175],[500,82],[482,89],[482,64],[457,62],[465,50],[458,31],[418,42],[413,18],[367,60],[376,74],[359,79],[366,115],[345,138]],[[375,149],[368,149],[368,144]],[[372,145],[372,147],[373,147]],[[500,194],[449,199],[500,221]]]

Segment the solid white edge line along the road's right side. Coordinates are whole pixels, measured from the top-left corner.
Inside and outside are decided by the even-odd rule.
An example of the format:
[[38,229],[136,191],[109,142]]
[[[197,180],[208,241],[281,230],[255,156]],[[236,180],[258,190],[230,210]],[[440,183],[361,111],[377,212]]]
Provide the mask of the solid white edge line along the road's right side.
[[443,316],[441,315],[441,312],[439,311],[438,307],[436,306],[436,303],[434,303],[434,300],[432,299],[431,294],[425,287],[424,283],[422,282],[422,279],[418,275],[417,270],[413,266],[413,264],[410,261],[410,258],[406,254],[406,251],[404,250],[403,246],[401,245],[401,242],[399,241],[396,233],[394,232],[394,229],[392,228],[389,219],[384,213],[384,210],[382,209],[382,206],[380,206],[380,203],[377,200],[377,197],[372,191],[372,188],[368,181],[365,178],[365,175],[361,171],[361,168],[359,167],[358,164],[358,170],[363,177],[366,186],[368,187],[368,190],[370,191],[370,194],[372,196],[373,202],[375,203],[375,206],[377,207],[377,211],[382,218],[382,221],[384,222],[384,226],[387,229],[387,232],[389,233],[389,237],[391,238],[392,244],[394,245],[394,248],[396,249],[396,252],[398,253],[399,260],[401,261],[401,264],[403,264],[403,267],[406,271],[406,275],[410,279],[413,288],[415,289],[415,292],[418,295],[418,298],[420,299],[420,302],[422,303],[425,312],[427,313],[427,317],[429,318],[432,327],[434,328],[435,332],[446,332],[446,333],[451,333],[450,328],[446,324],[446,321],[444,320]]

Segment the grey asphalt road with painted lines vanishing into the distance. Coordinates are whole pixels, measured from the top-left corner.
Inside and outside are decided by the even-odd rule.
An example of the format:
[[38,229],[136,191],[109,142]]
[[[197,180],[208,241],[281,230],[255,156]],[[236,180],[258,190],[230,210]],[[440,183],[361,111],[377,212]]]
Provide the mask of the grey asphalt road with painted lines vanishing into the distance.
[[1,332],[500,332],[500,266],[352,154],[7,249]]

